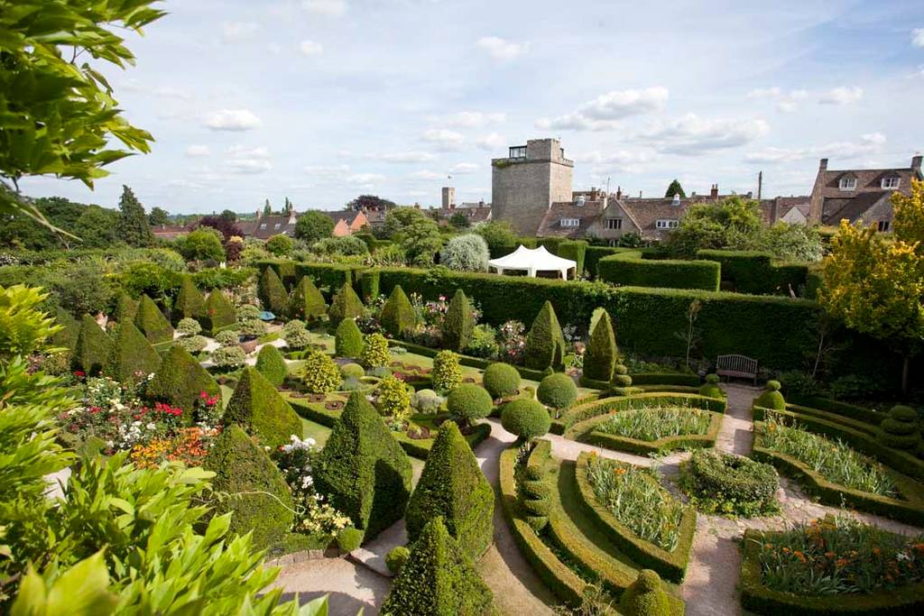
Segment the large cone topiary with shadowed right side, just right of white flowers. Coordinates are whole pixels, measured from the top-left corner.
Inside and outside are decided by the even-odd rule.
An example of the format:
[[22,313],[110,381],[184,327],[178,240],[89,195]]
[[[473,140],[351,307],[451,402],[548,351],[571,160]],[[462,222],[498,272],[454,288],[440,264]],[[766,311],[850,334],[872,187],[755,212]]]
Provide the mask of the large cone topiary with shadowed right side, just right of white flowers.
[[315,468],[322,494],[371,539],[404,515],[411,489],[407,453],[363,393],[350,394]]

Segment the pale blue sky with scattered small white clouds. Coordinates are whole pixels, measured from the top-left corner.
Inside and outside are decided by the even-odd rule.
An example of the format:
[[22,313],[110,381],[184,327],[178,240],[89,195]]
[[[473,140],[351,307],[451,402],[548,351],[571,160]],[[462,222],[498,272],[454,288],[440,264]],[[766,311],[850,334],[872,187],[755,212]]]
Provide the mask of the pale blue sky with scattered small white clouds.
[[174,213],[491,200],[491,159],[558,138],[575,189],[804,195],[924,150],[924,2],[170,0],[104,73],[152,152],[123,184]]

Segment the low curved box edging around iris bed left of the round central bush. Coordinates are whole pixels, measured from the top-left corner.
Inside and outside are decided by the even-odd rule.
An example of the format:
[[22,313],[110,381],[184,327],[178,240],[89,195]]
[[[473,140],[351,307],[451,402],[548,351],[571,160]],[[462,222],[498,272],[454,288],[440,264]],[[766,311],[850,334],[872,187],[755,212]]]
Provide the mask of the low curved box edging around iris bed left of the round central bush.
[[693,548],[693,536],[696,534],[696,508],[684,507],[680,518],[680,537],[674,550],[663,550],[650,541],[639,538],[626,525],[616,519],[606,507],[597,501],[593,487],[587,478],[587,465],[590,453],[577,456],[575,480],[584,510],[606,534],[614,545],[626,556],[644,569],[653,569],[665,580],[680,583],[687,574],[690,550]]

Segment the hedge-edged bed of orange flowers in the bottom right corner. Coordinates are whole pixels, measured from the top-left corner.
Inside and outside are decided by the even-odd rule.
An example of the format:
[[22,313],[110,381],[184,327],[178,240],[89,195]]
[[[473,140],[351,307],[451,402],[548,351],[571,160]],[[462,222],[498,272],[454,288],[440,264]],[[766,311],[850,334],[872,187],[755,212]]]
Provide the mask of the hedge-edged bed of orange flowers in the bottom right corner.
[[748,530],[741,601],[763,614],[907,614],[924,608],[924,537],[846,516],[782,532]]

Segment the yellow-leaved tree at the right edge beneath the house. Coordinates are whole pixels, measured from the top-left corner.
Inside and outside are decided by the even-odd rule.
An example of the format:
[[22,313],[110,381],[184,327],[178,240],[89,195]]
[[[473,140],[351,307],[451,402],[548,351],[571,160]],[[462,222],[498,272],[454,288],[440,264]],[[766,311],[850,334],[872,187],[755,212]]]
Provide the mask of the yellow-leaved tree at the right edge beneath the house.
[[892,241],[841,221],[819,302],[848,328],[894,345],[907,392],[911,358],[924,343],[924,184],[912,181],[911,195],[895,193],[892,204]]

